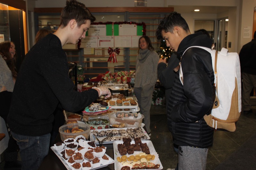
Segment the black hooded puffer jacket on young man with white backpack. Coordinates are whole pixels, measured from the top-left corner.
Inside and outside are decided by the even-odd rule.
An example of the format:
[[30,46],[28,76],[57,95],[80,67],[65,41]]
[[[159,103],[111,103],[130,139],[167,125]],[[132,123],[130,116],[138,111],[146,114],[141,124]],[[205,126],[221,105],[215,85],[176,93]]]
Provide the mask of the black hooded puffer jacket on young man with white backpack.
[[[212,40],[202,33],[190,34],[181,41],[178,55],[191,46],[211,48]],[[189,48],[181,58],[181,67],[183,85],[177,73],[168,103],[168,127],[175,144],[208,148],[213,143],[213,129],[203,117],[213,104],[211,54],[202,48]]]

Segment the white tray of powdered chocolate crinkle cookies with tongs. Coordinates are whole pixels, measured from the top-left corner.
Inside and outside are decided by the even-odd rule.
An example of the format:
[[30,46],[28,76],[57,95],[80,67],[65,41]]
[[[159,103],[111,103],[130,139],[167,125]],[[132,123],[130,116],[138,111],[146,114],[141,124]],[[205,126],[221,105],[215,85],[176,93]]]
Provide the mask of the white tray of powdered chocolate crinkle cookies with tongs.
[[134,140],[134,137],[140,137],[142,140],[150,139],[148,134],[143,128],[114,128],[114,129],[95,129],[90,130],[90,140],[98,143],[99,140],[104,139],[109,135],[109,133],[113,133],[112,137],[109,137],[104,143],[113,143],[114,141],[122,141],[123,138],[131,138]]

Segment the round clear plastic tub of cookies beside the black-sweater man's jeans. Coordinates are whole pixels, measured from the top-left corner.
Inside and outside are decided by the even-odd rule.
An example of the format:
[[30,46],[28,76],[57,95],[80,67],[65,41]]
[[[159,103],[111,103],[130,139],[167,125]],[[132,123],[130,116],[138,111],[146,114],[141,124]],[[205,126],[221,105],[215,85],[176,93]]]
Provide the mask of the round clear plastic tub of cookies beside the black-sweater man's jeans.
[[[78,133],[64,132],[67,129],[69,129],[70,132],[71,132],[73,128],[83,129],[84,131],[83,132],[78,132]],[[85,123],[65,124],[63,126],[60,126],[59,132],[60,132],[60,138],[61,138],[62,141],[64,141],[67,138],[75,139],[78,135],[83,135],[88,140],[89,135],[90,135],[90,126],[88,124],[85,124]]]

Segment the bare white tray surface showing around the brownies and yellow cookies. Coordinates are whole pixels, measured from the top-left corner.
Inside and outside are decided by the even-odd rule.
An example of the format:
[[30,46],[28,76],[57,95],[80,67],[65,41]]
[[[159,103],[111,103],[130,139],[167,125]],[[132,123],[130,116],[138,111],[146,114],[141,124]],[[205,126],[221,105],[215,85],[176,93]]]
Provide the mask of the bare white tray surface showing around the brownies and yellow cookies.
[[[163,169],[163,166],[162,166],[162,164],[161,164],[161,161],[160,161],[160,159],[159,159],[159,157],[158,157],[158,154],[156,153],[156,150],[155,150],[155,148],[154,148],[152,142],[151,142],[150,140],[141,140],[141,142],[142,142],[143,144],[146,143],[146,144],[148,145],[150,154],[154,153],[154,155],[156,156],[154,162],[155,162],[155,164],[159,164],[159,165],[160,165],[157,170]],[[117,157],[121,157],[120,153],[119,153],[118,150],[117,150],[117,145],[118,145],[118,144],[123,144],[123,141],[115,141],[115,142],[113,142],[114,160],[115,160],[115,170],[120,170],[121,167],[122,167],[122,164],[117,161]],[[132,141],[131,144],[134,144],[134,141]],[[141,151],[134,151],[134,153],[133,153],[132,155],[136,155],[136,154],[139,154],[139,153],[141,153]],[[157,155],[156,155],[156,154],[157,154]],[[129,157],[129,156],[131,156],[131,155],[129,155],[129,154],[127,153],[126,156]],[[151,162],[153,162],[153,161],[151,161]],[[151,169],[151,170],[153,170],[153,169]]]

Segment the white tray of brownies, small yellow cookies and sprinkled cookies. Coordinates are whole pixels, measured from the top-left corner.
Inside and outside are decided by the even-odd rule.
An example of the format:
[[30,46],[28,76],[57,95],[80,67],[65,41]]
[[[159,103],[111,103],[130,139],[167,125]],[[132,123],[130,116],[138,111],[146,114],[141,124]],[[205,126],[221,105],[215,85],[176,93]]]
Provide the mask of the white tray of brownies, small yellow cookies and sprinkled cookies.
[[123,138],[113,143],[115,169],[163,169],[151,141]]

